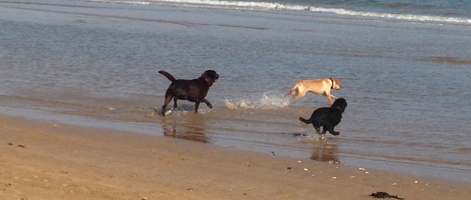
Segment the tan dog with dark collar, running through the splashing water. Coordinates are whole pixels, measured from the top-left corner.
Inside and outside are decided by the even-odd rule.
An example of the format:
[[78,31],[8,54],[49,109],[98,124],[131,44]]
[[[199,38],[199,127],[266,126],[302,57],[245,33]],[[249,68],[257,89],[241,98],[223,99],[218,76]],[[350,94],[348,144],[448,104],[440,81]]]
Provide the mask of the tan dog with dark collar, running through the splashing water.
[[293,100],[304,97],[304,95],[306,95],[306,92],[310,91],[315,94],[322,94],[324,96],[327,96],[327,99],[329,99],[329,102],[332,105],[332,98],[337,99],[337,97],[330,93],[330,89],[339,90],[340,87],[340,78],[334,79],[330,77],[319,78],[315,80],[300,80],[295,84],[295,86],[291,90],[288,91],[285,97],[290,94],[293,95],[293,98],[291,98],[290,100],[291,103]]

